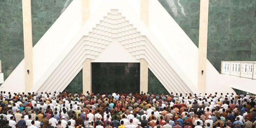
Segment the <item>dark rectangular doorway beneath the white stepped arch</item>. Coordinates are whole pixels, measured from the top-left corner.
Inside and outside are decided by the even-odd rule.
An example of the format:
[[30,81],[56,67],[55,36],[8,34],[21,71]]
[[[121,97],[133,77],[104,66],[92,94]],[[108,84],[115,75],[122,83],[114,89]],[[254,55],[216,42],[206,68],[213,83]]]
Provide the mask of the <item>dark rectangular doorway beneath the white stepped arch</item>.
[[92,63],[92,92],[139,93],[139,63]]

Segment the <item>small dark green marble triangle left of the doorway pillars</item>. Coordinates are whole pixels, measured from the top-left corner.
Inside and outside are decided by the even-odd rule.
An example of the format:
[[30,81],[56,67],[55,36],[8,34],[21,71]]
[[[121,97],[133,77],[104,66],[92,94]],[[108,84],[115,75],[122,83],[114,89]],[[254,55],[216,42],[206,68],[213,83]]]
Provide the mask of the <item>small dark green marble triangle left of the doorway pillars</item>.
[[83,70],[81,70],[75,78],[69,83],[69,85],[64,89],[64,91],[72,92],[72,94],[75,94],[75,92],[83,92]]

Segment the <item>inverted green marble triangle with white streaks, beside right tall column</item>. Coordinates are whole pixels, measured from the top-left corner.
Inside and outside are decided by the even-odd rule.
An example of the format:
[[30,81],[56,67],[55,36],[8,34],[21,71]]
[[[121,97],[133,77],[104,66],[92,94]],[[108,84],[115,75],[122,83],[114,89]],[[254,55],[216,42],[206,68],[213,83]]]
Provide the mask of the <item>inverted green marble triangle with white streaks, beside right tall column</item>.
[[158,0],[198,47],[200,0]]

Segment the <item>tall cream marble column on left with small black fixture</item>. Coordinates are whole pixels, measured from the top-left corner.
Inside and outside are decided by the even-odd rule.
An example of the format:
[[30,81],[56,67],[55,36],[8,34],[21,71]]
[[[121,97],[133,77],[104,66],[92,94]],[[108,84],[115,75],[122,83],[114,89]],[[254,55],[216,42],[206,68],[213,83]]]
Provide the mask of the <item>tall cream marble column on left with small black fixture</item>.
[[22,0],[24,60],[25,60],[25,93],[33,87],[33,42],[31,0]]

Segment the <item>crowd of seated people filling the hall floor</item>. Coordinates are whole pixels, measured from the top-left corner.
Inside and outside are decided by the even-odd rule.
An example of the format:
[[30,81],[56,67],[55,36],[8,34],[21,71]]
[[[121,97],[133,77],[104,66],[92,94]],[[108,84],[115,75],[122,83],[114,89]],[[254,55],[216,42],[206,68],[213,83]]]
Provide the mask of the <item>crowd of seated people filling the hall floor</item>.
[[0,128],[256,128],[242,94],[0,93]]

